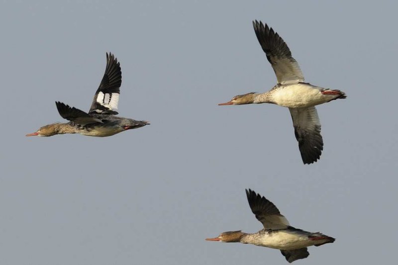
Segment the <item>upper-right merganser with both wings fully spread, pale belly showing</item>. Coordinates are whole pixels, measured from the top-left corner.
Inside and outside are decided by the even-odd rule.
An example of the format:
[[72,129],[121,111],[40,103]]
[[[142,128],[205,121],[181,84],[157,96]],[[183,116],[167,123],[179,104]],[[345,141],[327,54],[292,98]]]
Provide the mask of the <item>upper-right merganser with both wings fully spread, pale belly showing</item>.
[[218,105],[241,105],[251,103],[273,103],[288,107],[293,119],[298,148],[302,162],[316,162],[323,150],[320,122],[315,105],[337,98],[346,98],[337,89],[321,88],[304,83],[304,76],[297,61],[292,57],[285,41],[260,21],[253,21],[254,31],[268,61],[277,76],[278,84],[265,93],[247,93],[234,96],[230,101]]

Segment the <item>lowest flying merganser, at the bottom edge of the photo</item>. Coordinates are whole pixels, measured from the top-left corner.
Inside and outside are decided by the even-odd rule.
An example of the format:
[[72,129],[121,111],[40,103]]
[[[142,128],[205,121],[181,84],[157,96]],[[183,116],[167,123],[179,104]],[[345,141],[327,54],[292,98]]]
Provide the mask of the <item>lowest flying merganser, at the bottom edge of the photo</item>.
[[246,195],[252,212],[263,224],[264,229],[253,234],[241,231],[224,232],[216,238],[207,238],[207,241],[240,242],[278,249],[289,263],[307,258],[309,246],[318,247],[334,242],[334,238],[322,233],[311,233],[290,226],[285,216],[271,201],[253,190],[246,189]]

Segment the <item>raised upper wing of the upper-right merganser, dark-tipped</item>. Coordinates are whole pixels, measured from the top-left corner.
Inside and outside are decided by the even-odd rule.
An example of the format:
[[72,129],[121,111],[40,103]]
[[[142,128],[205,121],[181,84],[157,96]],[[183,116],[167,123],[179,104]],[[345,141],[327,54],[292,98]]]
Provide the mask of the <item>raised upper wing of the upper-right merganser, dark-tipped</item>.
[[279,84],[294,84],[304,81],[304,76],[285,41],[261,21],[253,21],[254,31],[261,48],[274,69]]

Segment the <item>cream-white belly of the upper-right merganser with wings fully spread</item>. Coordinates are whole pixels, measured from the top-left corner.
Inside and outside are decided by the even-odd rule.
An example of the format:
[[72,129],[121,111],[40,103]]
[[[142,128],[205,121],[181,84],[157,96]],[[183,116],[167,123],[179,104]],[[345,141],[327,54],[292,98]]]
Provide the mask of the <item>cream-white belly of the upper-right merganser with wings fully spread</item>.
[[289,107],[302,108],[319,105],[333,99],[335,95],[325,95],[317,87],[308,84],[287,85],[276,89],[272,94],[274,103]]

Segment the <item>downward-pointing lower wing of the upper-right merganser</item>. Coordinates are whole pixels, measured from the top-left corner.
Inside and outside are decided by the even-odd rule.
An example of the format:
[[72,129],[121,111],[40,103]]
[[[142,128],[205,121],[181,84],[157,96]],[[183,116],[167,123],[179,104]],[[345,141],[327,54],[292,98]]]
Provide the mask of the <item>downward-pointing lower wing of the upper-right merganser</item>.
[[316,162],[323,150],[320,122],[315,107],[289,108],[292,115],[295,136],[304,164]]

